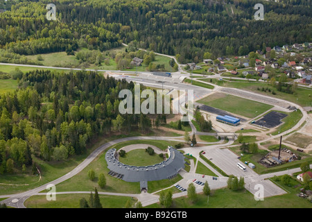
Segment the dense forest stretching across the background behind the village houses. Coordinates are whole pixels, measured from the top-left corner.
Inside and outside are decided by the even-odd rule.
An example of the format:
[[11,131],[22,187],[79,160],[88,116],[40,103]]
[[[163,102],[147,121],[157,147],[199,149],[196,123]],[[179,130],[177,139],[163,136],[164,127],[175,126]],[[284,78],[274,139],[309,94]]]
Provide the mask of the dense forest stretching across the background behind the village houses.
[[[214,58],[242,56],[311,42],[311,0],[260,2],[263,21],[254,19],[255,0],[8,1],[12,6],[0,13],[0,48],[11,55],[73,54],[81,46],[105,51],[124,42],[186,63],[207,51]],[[57,21],[45,18],[47,3],[55,3]]]

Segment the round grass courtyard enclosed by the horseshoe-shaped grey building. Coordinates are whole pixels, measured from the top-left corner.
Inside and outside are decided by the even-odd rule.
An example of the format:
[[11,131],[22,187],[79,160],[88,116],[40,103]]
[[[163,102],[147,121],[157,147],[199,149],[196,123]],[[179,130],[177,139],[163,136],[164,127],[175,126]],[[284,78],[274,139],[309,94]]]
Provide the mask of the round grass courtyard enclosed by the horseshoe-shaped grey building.
[[130,166],[150,166],[163,161],[157,153],[149,155],[144,149],[137,149],[125,153],[124,157],[119,157],[119,161]]

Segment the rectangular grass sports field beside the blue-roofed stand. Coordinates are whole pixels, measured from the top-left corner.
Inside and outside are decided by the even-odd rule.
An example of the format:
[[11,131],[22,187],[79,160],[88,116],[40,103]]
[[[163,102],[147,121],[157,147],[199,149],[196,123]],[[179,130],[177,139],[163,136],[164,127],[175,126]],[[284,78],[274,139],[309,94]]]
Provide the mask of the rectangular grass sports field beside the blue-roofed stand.
[[259,103],[223,93],[212,94],[200,99],[198,103],[209,105],[211,107],[232,112],[233,114],[239,114],[248,118],[257,117],[260,113],[266,112],[266,110],[273,107],[272,105],[265,103]]

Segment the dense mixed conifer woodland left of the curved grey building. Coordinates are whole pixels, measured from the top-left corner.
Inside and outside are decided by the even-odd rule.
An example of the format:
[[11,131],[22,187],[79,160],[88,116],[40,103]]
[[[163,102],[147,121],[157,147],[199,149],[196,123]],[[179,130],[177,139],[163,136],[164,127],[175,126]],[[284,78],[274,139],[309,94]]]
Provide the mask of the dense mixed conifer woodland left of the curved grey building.
[[24,74],[19,89],[0,95],[0,173],[26,169],[32,155],[46,161],[80,155],[99,135],[148,133],[148,115],[119,114],[121,89],[134,90],[134,83],[89,71]]

